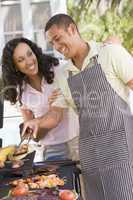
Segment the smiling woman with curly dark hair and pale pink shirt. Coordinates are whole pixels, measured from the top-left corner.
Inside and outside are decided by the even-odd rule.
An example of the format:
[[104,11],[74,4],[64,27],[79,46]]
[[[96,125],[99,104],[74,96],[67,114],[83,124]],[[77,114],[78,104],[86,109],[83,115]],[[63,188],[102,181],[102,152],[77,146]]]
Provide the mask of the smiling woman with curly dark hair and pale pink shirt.
[[[2,56],[4,95],[12,104],[20,102],[24,121],[48,112],[48,97],[56,88],[54,67],[57,65],[58,59],[43,54],[26,38],[15,38],[6,44]],[[76,128],[70,127],[71,120],[77,123]],[[78,135],[78,117],[64,110],[60,121],[52,130],[43,130],[38,136],[39,144],[44,146],[44,159],[70,158],[67,142]]]

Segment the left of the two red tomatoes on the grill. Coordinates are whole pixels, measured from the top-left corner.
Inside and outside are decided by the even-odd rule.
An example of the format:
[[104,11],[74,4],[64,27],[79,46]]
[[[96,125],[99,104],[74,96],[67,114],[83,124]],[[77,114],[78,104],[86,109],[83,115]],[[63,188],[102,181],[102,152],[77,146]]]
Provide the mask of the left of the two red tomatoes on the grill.
[[24,184],[18,185],[15,188],[11,190],[11,195],[14,197],[18,196],[24,196],[27,195],[29,192],[28,187],[26,187]]

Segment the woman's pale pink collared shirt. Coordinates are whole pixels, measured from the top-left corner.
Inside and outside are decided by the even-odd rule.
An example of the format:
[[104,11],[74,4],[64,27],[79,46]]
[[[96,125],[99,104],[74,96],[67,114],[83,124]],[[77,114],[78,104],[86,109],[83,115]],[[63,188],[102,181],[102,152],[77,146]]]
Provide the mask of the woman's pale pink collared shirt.
[[[24,85],[22,104],[34,113],[35,117],[41,117],[48,112],[48,97],[55,90],[55,84],[47,84],[44,79],[41,83],[42,92],[32,88],[29,84]],[[65,109],[63,120],[60,124],[48,132],[40,140],[41,145],[54,145],[72,140],[79,135],[78,116],[73,109]]]

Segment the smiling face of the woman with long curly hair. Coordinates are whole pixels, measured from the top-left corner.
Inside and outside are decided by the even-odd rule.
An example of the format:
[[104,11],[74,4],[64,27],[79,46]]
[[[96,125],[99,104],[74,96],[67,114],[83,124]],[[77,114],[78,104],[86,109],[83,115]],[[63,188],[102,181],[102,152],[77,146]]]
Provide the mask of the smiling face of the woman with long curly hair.
[[38,74],[37,57],[26,43],[19,43],[13,53],[13,61],[16,70],[24,73],[28,77]]

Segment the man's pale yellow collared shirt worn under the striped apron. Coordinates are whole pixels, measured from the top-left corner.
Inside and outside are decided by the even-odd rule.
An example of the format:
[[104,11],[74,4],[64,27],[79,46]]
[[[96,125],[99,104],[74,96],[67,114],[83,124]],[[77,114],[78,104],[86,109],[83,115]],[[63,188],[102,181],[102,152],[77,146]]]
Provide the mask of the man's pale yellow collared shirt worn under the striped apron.
[[66,101],[63,102],[60,97],[57,98],[52,105],[59,107],[64,106],[65,108],[71,106],[76,110],[66,77],[68,77],[69,72],[72,72],[72,75],[76,75],[83,71],[88,66],[90,58],[95,55],[98,55],[98,62],[101,64],[111,87],[128,103],[129,87],[127,86],[127,82],[133,79],[133,57],[120,44],[102,44],[90,41],[89,46],[90,51],[84,60],[81,70],[79,70],[71,60],[68,60],[64,64],[64,68],[62,68],[62,72],[58,72],[58,77],[60,78],[55,77],[55,80]]

